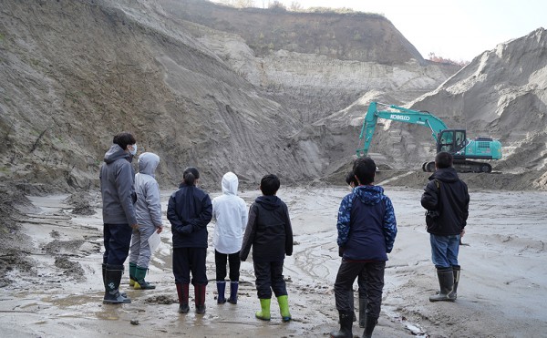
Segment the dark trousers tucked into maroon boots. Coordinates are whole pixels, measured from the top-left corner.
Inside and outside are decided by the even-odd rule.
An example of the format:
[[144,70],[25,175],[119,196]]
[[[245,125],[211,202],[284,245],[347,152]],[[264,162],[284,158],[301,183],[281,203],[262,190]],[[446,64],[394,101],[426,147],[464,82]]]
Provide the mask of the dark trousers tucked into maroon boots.
[[207,248],[174,248],[173,275],[175,276],[175,282],[207,285],[206,256]]

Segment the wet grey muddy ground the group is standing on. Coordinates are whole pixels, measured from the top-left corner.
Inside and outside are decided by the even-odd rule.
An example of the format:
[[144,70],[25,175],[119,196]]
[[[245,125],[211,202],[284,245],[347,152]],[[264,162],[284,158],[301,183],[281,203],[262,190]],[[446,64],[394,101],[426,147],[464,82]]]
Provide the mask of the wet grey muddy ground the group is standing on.
[[[399,232],[387,261],[376,337],[547,337],[543,311],[547,302],[547,192],[472,189],[469,226],[463,238],[466,245],[460,251],[458,301],[431,303],[428,296],[438,284],[419,206],[421,189],[385,187],[395,206]],[[171,190],[162,191],[164,214]],[[193,306],[190,313],[178,314],[167,220],[160,249],[150,264],[148,280],[157,289],[131,290],[126,274],[122,289],[133,302],[104,305],[98,192],[29,195],[29,202],[19,207],[13,233],[4,237],[11,239],[12,247],[17,245],[11,251],[4,245],[0,257],[1,335],[328,336],[337,327],[335,216],[347,192],[345,187],[319,184],[279,191],[289,206],[294,228],[294,254],[287,257],[284,270],[293,315],[290,323],[281,322],[274,302],[271,322],[254,318],[259,304],[251,260],[242,263],[238,304],[217,305],[212,247],[207,260],[211,281],[206,314],[196,315]],[[218,194],[215,191],[211,196]],[[253,189],[241,192],[248,205],[258,194]],[[213,226],[209,226],[210,234]],[[362,334],[356,323],[354,334]]]

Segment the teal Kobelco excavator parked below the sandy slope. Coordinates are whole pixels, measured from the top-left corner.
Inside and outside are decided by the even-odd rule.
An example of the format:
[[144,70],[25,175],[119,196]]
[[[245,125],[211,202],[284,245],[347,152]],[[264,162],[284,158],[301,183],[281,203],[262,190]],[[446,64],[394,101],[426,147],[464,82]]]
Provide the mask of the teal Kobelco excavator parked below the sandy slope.
[[[378,110],[377,106],[384,106],[391,110]],[[454,169],[459,172],[491,172],[489,163],[476,160],[501,159],[501,142],[493,138],[467,138],[465,129],[449,129],[442,119],[428,111],[418,111],[408,108],[371,102],[363,121],[359,144],[363,147],[356,150],[357,158],[366,156],[370,142],[377,127],[377,119],[384,118],[398,122],[424,126],[431,130],[431,136],[437,143],[437,152],[447,151],[454,157]],[[474,160],[476,159],[476,160]],[[422,164],[424,171],[435,171],[435,161]]]

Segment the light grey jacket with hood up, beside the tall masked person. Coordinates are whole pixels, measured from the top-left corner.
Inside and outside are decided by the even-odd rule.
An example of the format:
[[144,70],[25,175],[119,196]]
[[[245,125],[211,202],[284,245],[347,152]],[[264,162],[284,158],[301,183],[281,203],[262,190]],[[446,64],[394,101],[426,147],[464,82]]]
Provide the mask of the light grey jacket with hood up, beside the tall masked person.
[[160,186],[154,178],[159,164],[160,157],[156,154],[145,152],[139,156],[139,173],[135,175],[135,210],[141,227],[162,227]]

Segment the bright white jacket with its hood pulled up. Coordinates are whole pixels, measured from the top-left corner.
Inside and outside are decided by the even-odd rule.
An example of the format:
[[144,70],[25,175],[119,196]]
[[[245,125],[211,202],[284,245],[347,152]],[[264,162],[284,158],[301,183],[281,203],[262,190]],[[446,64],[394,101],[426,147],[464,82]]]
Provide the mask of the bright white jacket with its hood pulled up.
[[237,176],[227,172],[222,177],[222,195],[212,200],[212,219],[215,220],[212,245],[223,254],[242,249],[248,211],[245,201],[237,196],[238,185]]

